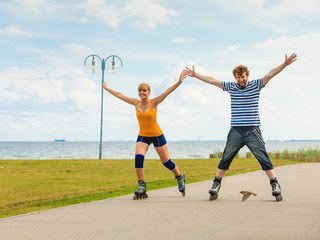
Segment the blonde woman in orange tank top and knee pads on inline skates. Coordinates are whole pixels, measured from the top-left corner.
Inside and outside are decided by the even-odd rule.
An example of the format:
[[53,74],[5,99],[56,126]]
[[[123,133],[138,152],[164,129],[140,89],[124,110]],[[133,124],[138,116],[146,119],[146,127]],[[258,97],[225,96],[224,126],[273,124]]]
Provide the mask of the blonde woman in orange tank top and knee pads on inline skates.
[[110,89],[105,82],[102,85],[103,88],[113,96],[135,106],[136,108],[136,115],[140,127],[135,151],[135,169],[138,177],[139,188],[135,191],[133,199],[148,197],[146,193],[147,188],[144,179],[143,163],[151,143],[154,145],[163,165],[171,170],[175,175],[175,178],[178,181],[179,191],[183,196],[185,195],[185,176],[180,174],[178,166],[170,160],[167,141],[159,124],[157,123],[157,107],[170,93],[180,86],[186,76],[186,71],[184,70],[180,74],[178,82],[153,99],[149,99],[151,89],[147,83],[141,83],[138,86],[138,95],[140,100],[137,98],[127,97],[120,92]]

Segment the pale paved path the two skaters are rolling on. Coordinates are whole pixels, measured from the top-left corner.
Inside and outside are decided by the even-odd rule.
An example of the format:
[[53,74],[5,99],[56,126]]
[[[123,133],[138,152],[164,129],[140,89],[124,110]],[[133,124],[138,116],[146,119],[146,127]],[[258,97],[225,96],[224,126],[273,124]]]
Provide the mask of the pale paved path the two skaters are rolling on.
[[[212,181],[0,219],[0,239],[320,239],[320,163],[276,168],[284,200],[276,202],[264,172],[225,177],[219,198]],[[241,190],[256,192],[241,202]]]

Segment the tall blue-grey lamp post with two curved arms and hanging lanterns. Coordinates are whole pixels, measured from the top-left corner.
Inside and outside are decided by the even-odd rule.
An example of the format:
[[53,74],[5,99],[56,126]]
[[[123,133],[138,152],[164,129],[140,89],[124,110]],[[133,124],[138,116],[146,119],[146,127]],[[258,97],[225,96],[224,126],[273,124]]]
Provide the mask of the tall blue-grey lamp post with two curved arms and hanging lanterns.
[[[95,54],[91,54],[89,55],[85,60],[84,60],[84,66],[86,65],[87,59],[92,57],[91,60],[91,64],[90,64],[90,71],[91,73],[95,73],[96,72],[96,68],[98,67],[98,64],[95,60],[95,57],[98,58],[100,60],[101,63],[101,72],[102,72],[102,79],[101,79],[101,84],[103,84],[104,82],[104,70],[106,69],[106,62],[109,58],[112,58],[112,61],[110,62],[110,64],[108,65],[108,71],[112,74],[117,73],[118,69],[119,69],[119,65],[116,63],[116,59],[119,60],[120,62],[120,66],[122,67],[122,60],[116,56],[116,55],[110,55],[107,58],[101,58],[98,55]],[[101,120],[100,120],[100,145],[99,145],[99,159],[101,159],[102,157],[102,126],[103,126],[103,87],[101,85]]]

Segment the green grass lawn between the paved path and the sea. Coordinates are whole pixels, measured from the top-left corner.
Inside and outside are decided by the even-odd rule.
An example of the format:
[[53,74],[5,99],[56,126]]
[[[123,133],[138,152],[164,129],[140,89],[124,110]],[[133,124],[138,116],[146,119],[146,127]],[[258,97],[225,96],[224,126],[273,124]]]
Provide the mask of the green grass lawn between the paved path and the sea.
[[[220,159],[174,159],[187,183],[213,179]],[[301,163],[275,160],[274,166]],[[148,190],[176,186],[160,160],[145,161]],[[0,218],[132,194],[134,160],[1,160]],[[256,159],[235,159],[227,175],[257,171]]]

